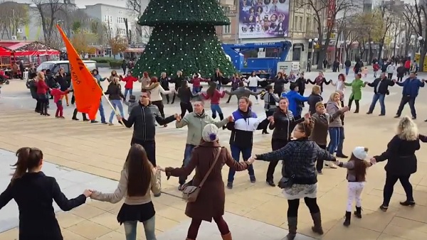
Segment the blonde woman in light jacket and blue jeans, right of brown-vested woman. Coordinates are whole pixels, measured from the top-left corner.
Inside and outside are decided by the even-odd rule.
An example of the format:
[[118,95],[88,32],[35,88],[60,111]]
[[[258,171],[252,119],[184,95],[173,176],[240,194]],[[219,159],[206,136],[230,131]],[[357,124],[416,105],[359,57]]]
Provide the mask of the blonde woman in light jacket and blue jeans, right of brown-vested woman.
[[[330,114],[330,116],[334,116],[335,113],[342,109],[340,94],[338,92],[334,92],[331,94],[329,101],[326,104],[326,112]],[[342,153],[342,146],[344,143],[344,126],[342,125],[341,118],[335,118],[330,122],[328,128],[330,134],[330,145],[329,152],[333,154],[335,149],[337,150],[337,158],[348,158]],[[334,163],[331,163],[330,168],[337,168]]]

